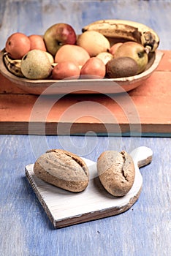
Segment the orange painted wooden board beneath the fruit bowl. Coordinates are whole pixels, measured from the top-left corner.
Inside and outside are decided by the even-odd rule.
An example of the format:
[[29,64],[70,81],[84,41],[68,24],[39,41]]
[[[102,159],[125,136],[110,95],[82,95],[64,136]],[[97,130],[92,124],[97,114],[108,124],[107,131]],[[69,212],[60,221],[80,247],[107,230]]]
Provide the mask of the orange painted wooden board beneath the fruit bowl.
[[[67,94],[38,99],[0,74],[0,134],[171,135],[171,51],[127,94]],[[50,108],[49,108],[50,106]]]

